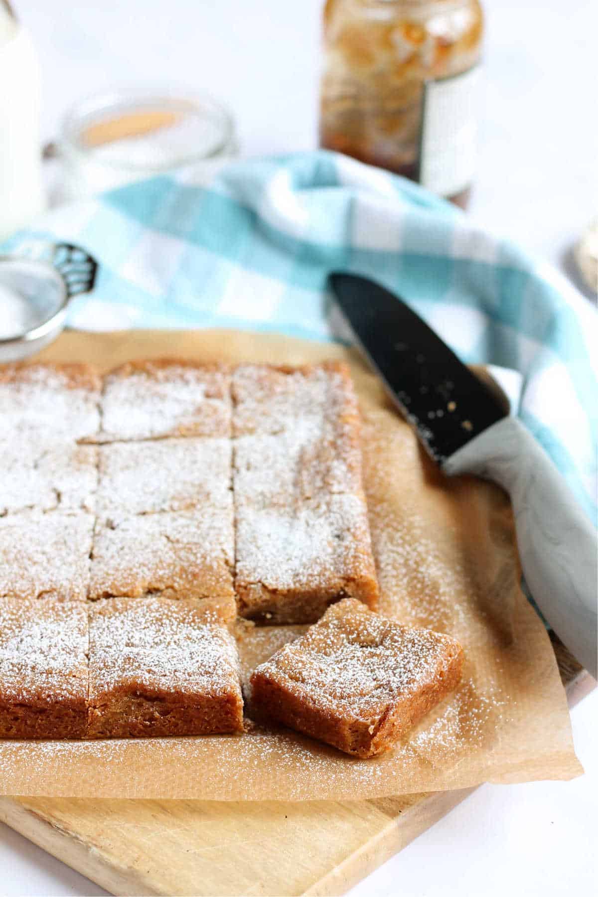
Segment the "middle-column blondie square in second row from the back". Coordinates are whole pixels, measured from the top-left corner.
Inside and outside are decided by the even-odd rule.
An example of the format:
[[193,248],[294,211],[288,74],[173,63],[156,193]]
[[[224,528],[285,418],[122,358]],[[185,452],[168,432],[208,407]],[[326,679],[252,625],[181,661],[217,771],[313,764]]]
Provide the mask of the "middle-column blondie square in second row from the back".
[[100,446],[98,515],[230,507],[230,440],[164,439]]

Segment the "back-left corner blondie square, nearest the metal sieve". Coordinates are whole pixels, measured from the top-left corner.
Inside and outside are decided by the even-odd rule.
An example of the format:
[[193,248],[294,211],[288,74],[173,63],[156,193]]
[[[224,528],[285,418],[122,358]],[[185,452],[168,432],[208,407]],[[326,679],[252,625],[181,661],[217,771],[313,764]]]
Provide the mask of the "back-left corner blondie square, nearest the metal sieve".
[[86,364],[0,366],[2,440],[82,440],[100,429],[98,372]]

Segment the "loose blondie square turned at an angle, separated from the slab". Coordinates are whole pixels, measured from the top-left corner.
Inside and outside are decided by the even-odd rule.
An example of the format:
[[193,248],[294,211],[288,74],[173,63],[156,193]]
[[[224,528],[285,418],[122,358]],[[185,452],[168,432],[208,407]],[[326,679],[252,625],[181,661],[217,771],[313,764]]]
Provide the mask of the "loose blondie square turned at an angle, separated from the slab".
[[373,757],[459,683],[458,641],[345,599],[258,666],[250,712],[357,757]]

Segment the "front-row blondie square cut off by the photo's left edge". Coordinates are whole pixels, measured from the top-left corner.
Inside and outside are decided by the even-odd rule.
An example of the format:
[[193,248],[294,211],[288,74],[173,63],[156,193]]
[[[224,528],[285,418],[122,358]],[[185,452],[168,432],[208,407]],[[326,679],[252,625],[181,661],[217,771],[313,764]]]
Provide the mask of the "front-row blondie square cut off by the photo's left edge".
[[81,738],[87,726],[83,604],[0,598],[0,738]]

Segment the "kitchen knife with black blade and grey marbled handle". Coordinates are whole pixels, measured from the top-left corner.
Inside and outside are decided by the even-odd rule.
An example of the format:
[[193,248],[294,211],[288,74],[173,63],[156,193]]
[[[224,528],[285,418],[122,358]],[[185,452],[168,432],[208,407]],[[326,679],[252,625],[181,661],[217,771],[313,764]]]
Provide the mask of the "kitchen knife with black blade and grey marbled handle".
[[354,274],[331,274],[329,286],[356,343],[442,470],[507,490],[533,599],[595,679],[598,543],[556,466],[402,300]]

